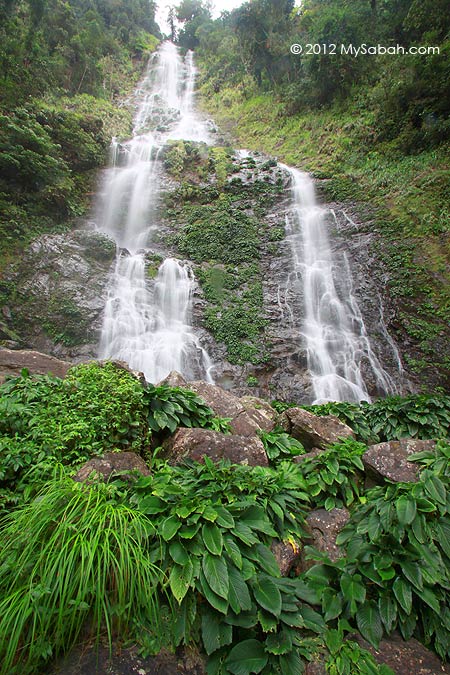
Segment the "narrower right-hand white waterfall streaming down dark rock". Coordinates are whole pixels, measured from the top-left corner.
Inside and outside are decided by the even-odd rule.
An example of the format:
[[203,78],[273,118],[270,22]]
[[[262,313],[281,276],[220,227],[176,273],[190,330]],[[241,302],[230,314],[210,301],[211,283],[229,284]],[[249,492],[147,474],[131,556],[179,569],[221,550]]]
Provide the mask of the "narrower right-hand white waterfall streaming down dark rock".
[[[302,337],[306,346],[315,403],[370,401],[365,373],[382,394],[395,386],[373,351],[358,302],[348,261],[333,261],[325,209],[308,174],[281,165],[292,180],[292,210],[286,234],[292,251],[289,284],[303,296]],[[389,344],[391,348],[391,344]]]

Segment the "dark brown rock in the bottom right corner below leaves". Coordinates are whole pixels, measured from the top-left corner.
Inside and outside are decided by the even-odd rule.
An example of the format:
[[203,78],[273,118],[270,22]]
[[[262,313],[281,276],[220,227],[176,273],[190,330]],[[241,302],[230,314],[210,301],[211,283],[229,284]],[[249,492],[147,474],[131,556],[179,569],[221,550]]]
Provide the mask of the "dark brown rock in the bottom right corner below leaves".
[[424,647],[414,638],[405,642],[394,634],[380,642],[374,649],[360,635],[352,635],[361,647],[367,649],[377,663],[384,663],[394,671],[395,675],[450,675],[450,667],[440,662],[436,654]]

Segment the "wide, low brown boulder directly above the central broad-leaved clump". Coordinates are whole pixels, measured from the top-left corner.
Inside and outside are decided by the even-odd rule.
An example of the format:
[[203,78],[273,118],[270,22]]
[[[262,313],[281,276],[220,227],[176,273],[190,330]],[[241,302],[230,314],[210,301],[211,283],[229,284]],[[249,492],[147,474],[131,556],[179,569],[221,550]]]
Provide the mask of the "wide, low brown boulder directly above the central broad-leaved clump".
[[164,448],[170,464],[179,464],[185,459],[200,462],[205,456],[249,466],[268,466],[269,463],[262,441],[256,436],[226,436],[208,429],[181,427],[164,442]]

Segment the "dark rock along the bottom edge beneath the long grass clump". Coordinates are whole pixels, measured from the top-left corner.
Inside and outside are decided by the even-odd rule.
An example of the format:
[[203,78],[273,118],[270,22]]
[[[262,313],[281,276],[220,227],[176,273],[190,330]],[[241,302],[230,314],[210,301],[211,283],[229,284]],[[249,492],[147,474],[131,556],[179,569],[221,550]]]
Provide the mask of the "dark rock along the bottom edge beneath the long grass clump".
[[162,651],[157,656],[139,656],[135,647],[113,645],[98,649],[94,645],[75,648],[68,656],[46,670],[46,675],[205,675],[205,664],[200,654],[188,647],[177,654]]

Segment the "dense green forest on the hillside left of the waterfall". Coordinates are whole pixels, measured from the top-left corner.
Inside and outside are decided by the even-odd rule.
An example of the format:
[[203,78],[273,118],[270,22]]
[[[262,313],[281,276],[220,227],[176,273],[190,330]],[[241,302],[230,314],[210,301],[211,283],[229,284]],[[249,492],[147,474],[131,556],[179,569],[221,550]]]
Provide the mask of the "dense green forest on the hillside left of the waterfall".
[[115,101],[158,44],[154,10],[144,0],[0,3],[1,256],[86,213],[111,137],[130,133],[131,112]]

